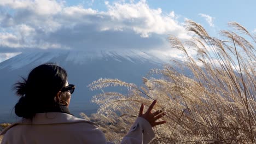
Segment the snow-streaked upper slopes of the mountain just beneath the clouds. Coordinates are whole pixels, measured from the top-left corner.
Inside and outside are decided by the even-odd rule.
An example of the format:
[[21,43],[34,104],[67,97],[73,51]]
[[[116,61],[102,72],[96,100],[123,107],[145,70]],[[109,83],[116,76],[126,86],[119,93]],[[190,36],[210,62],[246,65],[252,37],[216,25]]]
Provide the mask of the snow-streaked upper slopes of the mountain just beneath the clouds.
[[156,56],[153,52],[144,52],[139,50],[119,50],[119,51],[54,51],[54,52],[27,52],[21,53],[13,58],[7,59],[0,63],[0,69],[8,68],[9,70],[19,69],[25,65],[39,65],[46,62],[55,62],[55,59],[62,57],[66,62],[74,64],[84,64],[88,61],[101,59],[108,61],[110,58],[115,61],[130,61],[130,62],[146,62],[154,63],[166,62],[165,56]]

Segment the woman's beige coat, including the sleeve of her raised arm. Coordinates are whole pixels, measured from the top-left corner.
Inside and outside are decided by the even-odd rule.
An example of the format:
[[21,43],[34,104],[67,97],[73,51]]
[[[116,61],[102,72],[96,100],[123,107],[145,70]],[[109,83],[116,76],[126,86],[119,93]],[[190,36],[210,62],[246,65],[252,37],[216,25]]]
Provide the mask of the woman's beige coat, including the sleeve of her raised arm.
[[[11,124],[0,135],[2,143],[109,143],[98,125],[67,113],[37,113],[28,119]],[[149,143],[155,137],[148,121],[138,117],[121,143]]]

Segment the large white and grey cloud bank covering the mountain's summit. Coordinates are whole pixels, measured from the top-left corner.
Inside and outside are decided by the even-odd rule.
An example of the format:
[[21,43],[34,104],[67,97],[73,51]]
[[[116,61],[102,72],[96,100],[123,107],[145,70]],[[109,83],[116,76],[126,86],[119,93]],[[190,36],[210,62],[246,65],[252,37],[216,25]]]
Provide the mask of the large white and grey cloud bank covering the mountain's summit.
[[163,14],[160,8],[152,9],[144,0],[105,4],[107,10],[99,11],[83,5],[67,6],[63,1],[2,0],[0,52],[167,49],[168,34],[190,38],[174,11]]

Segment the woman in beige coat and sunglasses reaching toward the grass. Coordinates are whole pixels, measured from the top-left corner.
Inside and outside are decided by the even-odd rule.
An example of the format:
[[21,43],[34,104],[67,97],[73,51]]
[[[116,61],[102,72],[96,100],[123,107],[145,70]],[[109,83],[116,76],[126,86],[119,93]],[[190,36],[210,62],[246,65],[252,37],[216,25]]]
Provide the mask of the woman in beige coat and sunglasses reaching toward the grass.
[[[0,135],[2,143],[108,143],[98,125],[71,115],[68,106],[75,86],[67,81],[66,70],[56,64],[34,68],[27,80],[15,85],[21,98],[15,113],[22,117]],[[151,112],[156,100],[143,114],[143,104],[132,129],[121,143],[149,143],[155,136],[152,127],[165,115]]]

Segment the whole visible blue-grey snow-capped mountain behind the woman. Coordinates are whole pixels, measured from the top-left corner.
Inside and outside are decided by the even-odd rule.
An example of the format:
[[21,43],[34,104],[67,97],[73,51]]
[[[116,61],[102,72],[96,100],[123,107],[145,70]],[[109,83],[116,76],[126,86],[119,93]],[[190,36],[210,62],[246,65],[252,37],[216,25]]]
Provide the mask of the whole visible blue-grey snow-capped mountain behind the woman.
[[152,68],[161,68],[167,59],[138,50],[21,53],[0,63],[0,123],[13,121],[13,107],[18,100],[12,90],[13,84],[21,80],[21,76],[26,78],[39,64],[54,62],[67,70],[69,83],[77,87],[70,109],[78,115],[79,112],[96,112],[96,105],[90,100],[98,92],[91,92],[87,87],[92,81],[107,77],[139,85],[142,76]]

